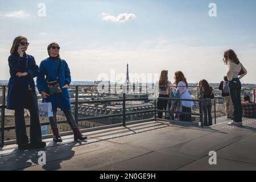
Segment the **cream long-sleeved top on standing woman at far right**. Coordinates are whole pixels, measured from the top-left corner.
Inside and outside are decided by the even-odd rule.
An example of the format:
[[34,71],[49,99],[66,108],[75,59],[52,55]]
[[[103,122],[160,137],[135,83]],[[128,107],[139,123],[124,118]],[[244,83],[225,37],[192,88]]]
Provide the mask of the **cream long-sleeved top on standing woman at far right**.
[[[243,73],[242,75],[240,75],[240,77],[238,77],[239,72],[241,71],[241,69],[243,69],[243,72],[245,72],[245,73]],[[240,78],[241,79],[246,74],[247,74],[247,71],[241,63],[236,64],[233,61],[228,61],[228,73],[226,75],[228,76],[229,81],[232,81],[233,78]]]

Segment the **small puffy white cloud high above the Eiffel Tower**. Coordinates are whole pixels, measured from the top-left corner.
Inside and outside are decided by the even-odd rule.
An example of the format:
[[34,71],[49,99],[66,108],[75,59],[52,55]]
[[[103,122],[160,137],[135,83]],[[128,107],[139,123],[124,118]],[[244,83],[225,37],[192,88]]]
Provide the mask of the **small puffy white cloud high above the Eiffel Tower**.
[[102,20],[106,22],[115,22],[115,23],[124,23],[130,20],[134,20],[136,18],[135,14],[127,14],[127,13],[122,13],[119,14],[118,16],[113,16],[110,14],[102,13],[103,16]]

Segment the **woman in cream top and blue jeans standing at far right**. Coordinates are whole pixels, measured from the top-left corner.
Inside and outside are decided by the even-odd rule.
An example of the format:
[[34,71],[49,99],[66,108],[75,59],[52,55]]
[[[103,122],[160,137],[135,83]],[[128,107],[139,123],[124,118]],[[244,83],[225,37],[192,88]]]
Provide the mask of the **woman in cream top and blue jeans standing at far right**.
[[233,104],[233,121],[229,122],[228,125],[241,126],[243,110],[240,79],[247,74],[247,71],[232,49],[225,51],[223,61],[228,65],[229,93]]

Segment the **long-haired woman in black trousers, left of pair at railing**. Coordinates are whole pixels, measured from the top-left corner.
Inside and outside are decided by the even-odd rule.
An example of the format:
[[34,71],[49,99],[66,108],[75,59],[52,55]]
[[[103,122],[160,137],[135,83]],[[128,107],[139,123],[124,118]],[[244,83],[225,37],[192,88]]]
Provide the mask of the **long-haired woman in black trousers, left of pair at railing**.
[[[160,98],[169,98],[169,94],[171,92],[171,86],[174,86],[171,81],[168,80],[168,71],[163,70],[161,72],[159,82],[158,82],[158,92],[159,92],[159,97]],[[157,109],[158,110],[166,110],[168,100],[163,100],[163,99],[158,99],[157,101]],[[163,117],[163,112],[158,111],[158,118]]]

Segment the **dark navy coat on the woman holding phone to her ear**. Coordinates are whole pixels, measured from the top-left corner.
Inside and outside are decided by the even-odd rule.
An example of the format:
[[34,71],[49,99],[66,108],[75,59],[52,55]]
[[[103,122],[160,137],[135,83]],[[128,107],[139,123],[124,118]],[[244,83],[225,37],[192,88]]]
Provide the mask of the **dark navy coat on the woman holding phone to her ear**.
[[[21,110],[26,107],[28,87],[35,92],[34,77],[38,75],[38,65],[31,55],[20,57],[18,54],[8,58],[10,80],[8,83],[7,109]],[[27,72],[27,76],[15,76],[18,72]]]

